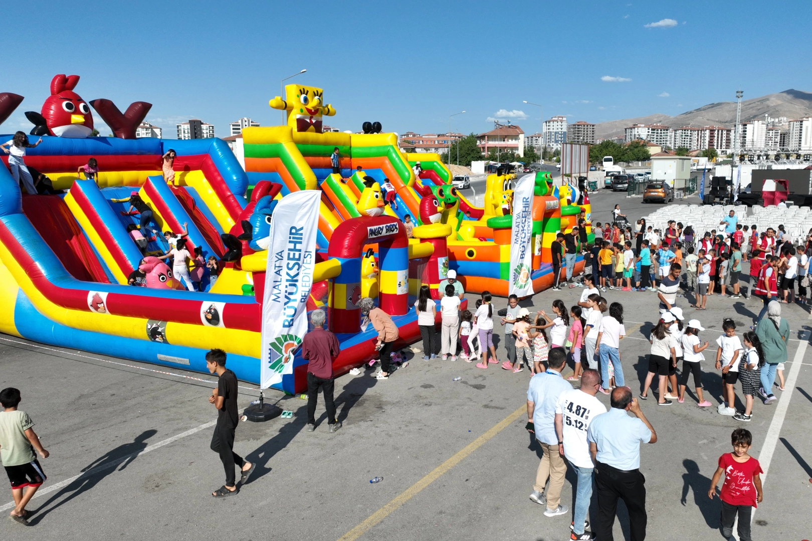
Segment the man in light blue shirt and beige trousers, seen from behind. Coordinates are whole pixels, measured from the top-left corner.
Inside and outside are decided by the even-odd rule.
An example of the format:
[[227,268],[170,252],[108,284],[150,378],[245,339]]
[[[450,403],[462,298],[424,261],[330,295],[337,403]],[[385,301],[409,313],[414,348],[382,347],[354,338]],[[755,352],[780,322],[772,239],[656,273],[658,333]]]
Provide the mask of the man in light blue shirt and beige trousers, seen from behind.
[[[547,357],[549,368],[542,374],[530,378],[530,387],[527,389],[527,429],[536,435],[542,445],[542,462],[538,465],[536,484],[530,500],[537,504],[546,505],[544,514],[555,517],[568,512],[566,505],[560,505],[561,488],[564,487],[564,475],[567,474],[567,464],[559,453],[558,436],[555,434],[555,406],[558,405],[562,394],[571,391],[561,371],[567,361],[567,353],[563,347],[554,347]],[[550,489],[543,494],[544,485],[550,478]]]

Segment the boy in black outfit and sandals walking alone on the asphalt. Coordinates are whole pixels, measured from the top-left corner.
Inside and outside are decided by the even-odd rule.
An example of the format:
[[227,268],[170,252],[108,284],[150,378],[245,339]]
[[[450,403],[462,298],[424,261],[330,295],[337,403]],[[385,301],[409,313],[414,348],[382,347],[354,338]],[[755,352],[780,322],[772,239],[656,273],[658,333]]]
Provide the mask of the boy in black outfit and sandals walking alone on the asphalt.
[[212,374],[219,377],[217,389],[209,396],[209,404],[214,404],[218,410],[217,425],[214,427],[214,436],[211,438],[211,450],[220,455],[220,461],[226,470],[226,484],[212,492],[215,498],[222,498],[236,494],[237,485],[234,481],[234,467],[239,464],[240,486],[248,481],[253,474],[256,464],[246,462],[234,452],[234,432],[239,422],[237,412],[237,376],[226,367],[226,352],[211,350],[205,354],[205,364]]

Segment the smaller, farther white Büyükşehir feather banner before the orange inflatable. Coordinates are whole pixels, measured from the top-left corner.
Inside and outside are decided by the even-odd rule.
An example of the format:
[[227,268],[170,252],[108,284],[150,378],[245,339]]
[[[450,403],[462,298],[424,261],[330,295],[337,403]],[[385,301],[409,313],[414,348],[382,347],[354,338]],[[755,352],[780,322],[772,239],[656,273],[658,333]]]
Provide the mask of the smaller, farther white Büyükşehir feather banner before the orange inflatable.
[[510,286],[508,294],[527,297],[533,294],[533,187],[535,174],[525,174],[513,189],[513,222],[510,231]]

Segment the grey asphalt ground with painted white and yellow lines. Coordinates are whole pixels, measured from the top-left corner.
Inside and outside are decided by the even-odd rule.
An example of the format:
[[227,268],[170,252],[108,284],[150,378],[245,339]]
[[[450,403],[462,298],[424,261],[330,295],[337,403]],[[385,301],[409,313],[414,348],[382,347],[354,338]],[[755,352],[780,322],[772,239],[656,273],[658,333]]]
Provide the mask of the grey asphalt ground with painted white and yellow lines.
[[[595,195],[594,208],[612,205],[613,196]],[[523,304],[550,311],[553,299],[571,306],[580,293],[547,290]],[[658,316],[656,294],[604,296],[624,304],[621,358],[637,393],[648,366],[647,331]],[[736,320],[741,333],[761,308],[757,299],[714,296],[696,312],[689,300],[677,304],[702,320],[702,339],[711,342],[724,317]],[[696,407],[690,387],[683,404],[641,403],[659,436],[641,449],[649,539],[717,539],[719,500],[706,492],[739,426],[753,432],[751,453],[769,466],[754,539],[809,539],[812,356],[795,331],[812,320],[808,307],[795,305],[784,305],[784,316],[793,329],[787,390],[775,389],[779,400],[771,406],[757,401],[752,422],[715,412],[722,389],[712,347],[703,385],[713,407]],[[498,353],[504,359],[501,340]],[[335,434],[326,430],[321,398],[317,430],[309,433],[306,401],[271,391],[270,401],[293,410],[293,419],[240,423],[235,451],[257,462],[257,470],[239,494],[214,500],[210,492],[223,483],[209,450],[214,377],[6,335],[0,367],[0,387],[21,389],[20,408],[51,453],[41,459],[49,479],[29,505],[32,526],[3,520],[2,539],[568,539],[571,515],[545,517],[528,499],[541,451],[524,428],[527,371],[427,363],[418,354],[389,380],[374,380],[371,370],[342,376],[335,396],[343,428]],[[240,389],[240,407],[258,394],[243,386],[249,389]],[[741,387],[736,395],[741,401]],[[598,398],[608,406],[607,397]],[[382,482],[370,484],[375,476]],[[567,479],[562,503],[572,509],[571,471]],[[11,494],[5,498],[0,506],[7,513]],[[619,509],[615,539],[628,539],[622,503]],[[596,511],[593,504],[592,518]]]

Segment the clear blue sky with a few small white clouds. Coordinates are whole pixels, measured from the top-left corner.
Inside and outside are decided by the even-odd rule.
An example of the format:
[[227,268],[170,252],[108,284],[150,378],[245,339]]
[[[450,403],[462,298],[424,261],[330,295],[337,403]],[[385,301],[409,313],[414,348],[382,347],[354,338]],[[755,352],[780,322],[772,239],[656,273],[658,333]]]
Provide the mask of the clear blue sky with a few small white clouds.
[[268,101],[303,68],[292,81],[324,88],[337,110],[327,123],[341,130],[369,120],[443,132],[465,109],[454,131],[486,131],[496,117],[538,131],[538,107],[523,100],[570,122],[674,115],[732,101],[740,86],[745,99],[812,91],[810,11],[749,0],[21,2],[4,11],[0,92],[25,101],[0,131],[28,131],[22,113],[40,110],[58,73],[80,75],[86,100],[149,101],[168,138],[188,118],[218,136],[243,116],[278,124]]

